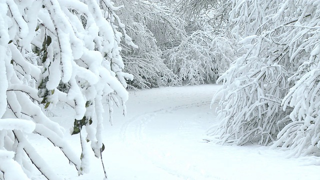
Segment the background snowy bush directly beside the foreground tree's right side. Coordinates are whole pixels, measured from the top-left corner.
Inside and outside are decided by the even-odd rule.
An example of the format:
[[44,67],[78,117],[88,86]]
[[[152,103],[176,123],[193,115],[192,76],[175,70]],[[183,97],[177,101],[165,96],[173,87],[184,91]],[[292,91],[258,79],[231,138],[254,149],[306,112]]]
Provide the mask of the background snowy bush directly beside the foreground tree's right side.
[[119,0],[118,4],[121,3],[124,8],[117,13],[126,24],[126,32],[138,47],[121,44],[124,71],[134,76],[133,80],[128,81],[128,87],[149,88],[177,84],[177,76],[163,63],[156,37],[149,29],[149,26],[154,26],[154,22],[162,20],[164,10],[146,0]]

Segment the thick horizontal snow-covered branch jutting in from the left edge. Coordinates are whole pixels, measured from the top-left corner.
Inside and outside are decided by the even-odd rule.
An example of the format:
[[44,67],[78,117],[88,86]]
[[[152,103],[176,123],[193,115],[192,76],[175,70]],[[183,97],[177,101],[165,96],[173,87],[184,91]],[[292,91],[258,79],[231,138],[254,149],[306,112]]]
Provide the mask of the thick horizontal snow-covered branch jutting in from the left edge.
[[17,118],[3,118],[0,119],[0,130],[21,130],[26,133],[33,132],[35,123],[30,120]]

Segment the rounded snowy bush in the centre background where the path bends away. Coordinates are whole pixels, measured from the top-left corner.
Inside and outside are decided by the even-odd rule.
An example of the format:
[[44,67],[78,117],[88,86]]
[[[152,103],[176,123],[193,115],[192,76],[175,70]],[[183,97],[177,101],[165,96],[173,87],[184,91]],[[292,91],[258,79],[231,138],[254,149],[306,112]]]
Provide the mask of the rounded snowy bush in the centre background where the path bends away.
[[184,18],[185,34],[176,46],[163,51],[163,57],[184,84],[214,83],[236,56],[235,40],[225,33],[225,21],[216,19],[218,10],[213,5],[217,2],[203,3],[173,3]]

